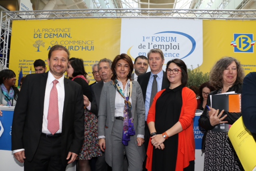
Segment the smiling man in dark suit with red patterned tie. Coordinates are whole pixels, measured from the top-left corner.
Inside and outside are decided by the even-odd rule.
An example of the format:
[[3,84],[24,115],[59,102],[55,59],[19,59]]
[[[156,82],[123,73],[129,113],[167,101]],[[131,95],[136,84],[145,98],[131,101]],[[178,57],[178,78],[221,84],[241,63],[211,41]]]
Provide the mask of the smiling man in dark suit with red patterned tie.
[[30,74],[23,82],[14,110],[12,150],[25,171],[65,171],[80,152],[83,93],[64,77],[68,60],[68,50],[55,45],[48,54],[50,72]]

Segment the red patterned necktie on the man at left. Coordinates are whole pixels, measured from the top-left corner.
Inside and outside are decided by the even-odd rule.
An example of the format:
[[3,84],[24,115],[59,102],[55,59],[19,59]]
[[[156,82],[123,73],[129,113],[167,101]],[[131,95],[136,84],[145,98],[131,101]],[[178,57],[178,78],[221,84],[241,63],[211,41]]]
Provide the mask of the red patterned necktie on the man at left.
[[56,88],[56,84],[58,80],[54,80],[52,86],[52,90],[50,92],[50,101],[49,101],[49,109],[48,109],[48,125],[47,129],[54,135],[60,128],[59,124],[59,107],[58,107],[58,91]]

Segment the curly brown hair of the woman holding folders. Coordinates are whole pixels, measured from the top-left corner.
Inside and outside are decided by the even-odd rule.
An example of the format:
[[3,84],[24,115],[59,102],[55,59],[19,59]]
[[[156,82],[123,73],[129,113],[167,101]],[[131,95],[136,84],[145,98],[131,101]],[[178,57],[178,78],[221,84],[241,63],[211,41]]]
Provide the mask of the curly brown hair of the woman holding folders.
[[244,80],[244,69],[242,65],[236,58],[233,57],[223,57],[216,62],[210,71],[210,84],[216,89],[222,89],[223,87],[223,72],[224,70],[230,66],[232,62],[236,63],[237,77],[236,82],[234,84],[243,83]]

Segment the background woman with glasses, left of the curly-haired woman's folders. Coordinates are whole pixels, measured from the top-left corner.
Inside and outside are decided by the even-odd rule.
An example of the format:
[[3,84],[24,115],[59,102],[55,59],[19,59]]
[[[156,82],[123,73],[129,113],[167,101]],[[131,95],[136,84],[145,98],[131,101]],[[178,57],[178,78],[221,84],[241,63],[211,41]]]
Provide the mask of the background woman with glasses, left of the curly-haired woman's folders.
[[209,82],[203,83],[199,87],[199,99],[197,99],[197,109],[204,110],[206,101],[210,92],[214,91],[215,88]]

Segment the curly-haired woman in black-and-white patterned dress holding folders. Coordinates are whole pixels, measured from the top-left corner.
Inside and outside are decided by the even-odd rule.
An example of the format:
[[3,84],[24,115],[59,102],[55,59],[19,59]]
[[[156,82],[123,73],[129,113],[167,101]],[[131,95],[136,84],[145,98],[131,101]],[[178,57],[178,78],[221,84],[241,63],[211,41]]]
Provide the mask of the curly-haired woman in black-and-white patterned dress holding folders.
[[[216,62],[210,72],[210,83],[216,88],[210,95],[230,91],[242,93],[243,79],[244,70],[240,62],[232,57],[224,57]],[[211,104],[209,97],[208,106]],[[207,130],[203,137],[204,171],[244,170],[228,138],[228,133],[217,129],[220,126],[225,127],[225,130],[228,129],[241,115],[242,113],[230,113],[224,110],[219,113],[219,109],[212,107],[210,111],[204,109],[199,119],[199,125]]]

